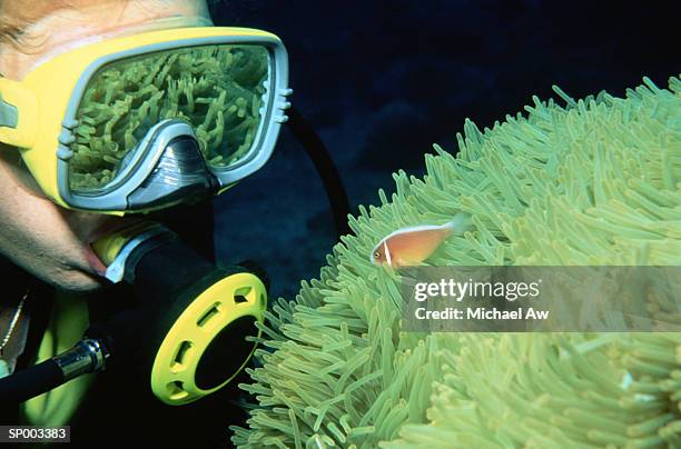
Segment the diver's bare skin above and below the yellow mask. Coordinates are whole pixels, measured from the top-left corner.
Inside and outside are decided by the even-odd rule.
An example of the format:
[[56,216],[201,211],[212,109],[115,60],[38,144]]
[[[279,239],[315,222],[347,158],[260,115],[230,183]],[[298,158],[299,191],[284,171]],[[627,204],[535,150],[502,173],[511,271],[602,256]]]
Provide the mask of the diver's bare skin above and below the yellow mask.
[[[0,17],[29,22],[20,27],[18,42],[0,42],[0,72],[14,80],[89,42],[210,24],[205,0],[0,0]],[[1,255],[63,289],[88,291],[101,285],[105,267],[90,243],[125,219],[56,206],[40,193],[12,148],[0,147],[0,192]]]

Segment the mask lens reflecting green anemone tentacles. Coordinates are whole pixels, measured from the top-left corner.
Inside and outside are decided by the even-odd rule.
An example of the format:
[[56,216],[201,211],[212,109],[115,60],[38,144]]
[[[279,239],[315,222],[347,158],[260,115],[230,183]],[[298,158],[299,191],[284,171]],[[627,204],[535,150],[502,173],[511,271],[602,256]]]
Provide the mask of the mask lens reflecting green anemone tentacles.
[[217,44],[103,66],[76,113],[71,190],[100,193],[125,181],[149,129],[170,118],[194,127],[209,168],[220,171],[248,159],[266,113],[269,58],[261,46]]

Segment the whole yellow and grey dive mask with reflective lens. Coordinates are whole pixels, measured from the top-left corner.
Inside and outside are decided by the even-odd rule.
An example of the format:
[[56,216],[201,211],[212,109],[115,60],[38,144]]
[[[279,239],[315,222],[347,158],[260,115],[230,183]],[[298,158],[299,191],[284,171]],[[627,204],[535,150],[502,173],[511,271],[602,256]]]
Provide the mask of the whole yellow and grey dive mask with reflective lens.
[[0,141],[63,207],[147,212],[263,167],[287,120],[287,83],[286,50],[264,31],[114,38],[0,79]]

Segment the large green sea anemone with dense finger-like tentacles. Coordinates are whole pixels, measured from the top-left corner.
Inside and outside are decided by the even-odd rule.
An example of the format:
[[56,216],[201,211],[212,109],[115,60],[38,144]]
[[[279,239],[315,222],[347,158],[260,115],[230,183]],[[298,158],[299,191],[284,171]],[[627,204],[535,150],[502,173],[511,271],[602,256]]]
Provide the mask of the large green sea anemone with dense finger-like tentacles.
[[[428,266],[681,265],[681,81],[540,101],[435,147],[359,209],[318,280],[261,326],[239,447],[679,447],[679,333],[416,333],[376,241],[460,211]],[[650,308],[655,313],[654,305]]]

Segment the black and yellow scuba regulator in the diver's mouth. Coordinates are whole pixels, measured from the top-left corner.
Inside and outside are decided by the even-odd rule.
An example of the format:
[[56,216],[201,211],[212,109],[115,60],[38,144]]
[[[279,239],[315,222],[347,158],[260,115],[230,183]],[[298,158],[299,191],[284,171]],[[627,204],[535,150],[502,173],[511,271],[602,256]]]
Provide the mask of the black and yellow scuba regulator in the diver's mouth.
[[116,255],[106,277],[131,283],[138,298],[134,310],[88,331],[105,341],[112,366],[141,362],[154,395],[174,406],[219,390],[244,368],[267,305],[259,270],[216,268],[149,222],[109,236],[95,249],[105,265]]

